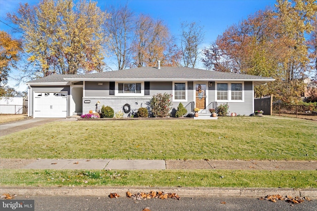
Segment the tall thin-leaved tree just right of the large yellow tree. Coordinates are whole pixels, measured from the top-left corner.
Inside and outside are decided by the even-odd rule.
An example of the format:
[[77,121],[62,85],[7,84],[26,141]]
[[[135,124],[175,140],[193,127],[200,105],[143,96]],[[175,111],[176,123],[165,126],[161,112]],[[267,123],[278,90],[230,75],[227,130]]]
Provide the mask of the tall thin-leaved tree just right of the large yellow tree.
[[110,6],[108,12],[110,17],[106,19],[105,29],[110,36],[109,50],[116,57],[118,70],[123,70],[130,63],[135,15],[127,5],[118,9]]

